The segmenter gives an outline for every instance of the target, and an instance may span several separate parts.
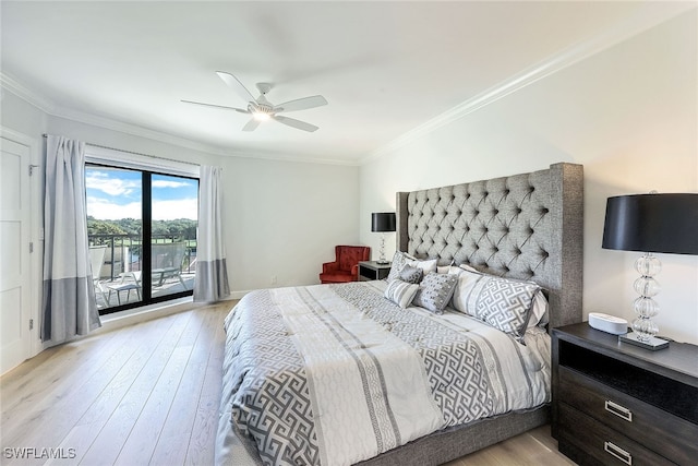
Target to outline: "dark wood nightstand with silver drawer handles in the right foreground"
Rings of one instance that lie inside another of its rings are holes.
[[[648,351],[587,322],[553,328],[552,433],[582,465],[695,465],[698,346]]]

